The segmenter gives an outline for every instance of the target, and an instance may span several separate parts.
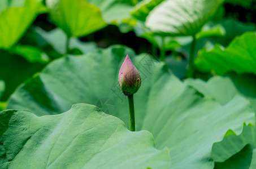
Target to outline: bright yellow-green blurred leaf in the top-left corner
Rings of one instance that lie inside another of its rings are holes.
[[[41,1],[1,1],[0,48],[11,48],[32,24],[38,14]],[[3,6],[2,6],[3,5]]]

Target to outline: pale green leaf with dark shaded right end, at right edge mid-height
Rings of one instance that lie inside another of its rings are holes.
[[[224,77],[216,75],[207,82],[201,79],[186,79],[185,82],[205,97],[214,98],[222,105],[227,104],[239,94],[248,99],[256,110],[256,76],[254,74],[229,73]]]

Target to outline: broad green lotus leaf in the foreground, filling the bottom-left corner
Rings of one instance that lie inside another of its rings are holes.
[[[168,149],[157,150],[148,131],[131,132],[94,105],[37,117],[0,113],[0,168],[168,168]]]

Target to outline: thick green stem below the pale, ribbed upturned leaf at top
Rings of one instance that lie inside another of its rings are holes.
[[[186,77],[188,78],[192,78],[194,77],[194,72],[195,72],[195,68],[194,68],[194,52],[196,52],[196,35],[193,35],[193,41],[190,44],[190,56],[189,56],[189,66],[188,66],[188,72],[186,72]]]

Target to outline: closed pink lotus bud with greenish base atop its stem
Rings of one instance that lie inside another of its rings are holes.
[[[127,55],[122,64],[119,75],[118,83],[124,95],[129,96],[135,94],[141,86],[141,76],[138,70],[132,64],[132,60]]]

